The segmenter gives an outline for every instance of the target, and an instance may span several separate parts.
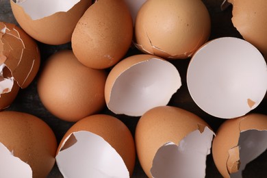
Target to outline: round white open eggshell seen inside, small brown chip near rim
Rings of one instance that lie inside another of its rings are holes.
[[[196,51],[188,66],[187,84],[192,99],[208,114],[244,116],[264,99],[266,62],[249,42],[218,38]]]

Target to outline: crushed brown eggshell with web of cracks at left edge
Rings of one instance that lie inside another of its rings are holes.
[[[31,84],[39,66],[36,42],[16,25],[0,22],[0,110],[14,101],[19,87]]]

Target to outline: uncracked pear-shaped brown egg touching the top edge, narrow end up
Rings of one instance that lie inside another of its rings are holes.
[[[109,68],[127,53],[133,23],[125,1],[99,0],[79,19],[72,36],[77,59],[90,68]]]

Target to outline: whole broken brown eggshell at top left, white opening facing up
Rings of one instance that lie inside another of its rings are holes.
[[[79,18],[90,7],[88,0],[10,0],[18,24],[32,38],[46,44],[64,44]]]

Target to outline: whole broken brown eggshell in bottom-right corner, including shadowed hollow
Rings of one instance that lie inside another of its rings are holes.
[[[267,149],[267,116],[247,114],[226,120],[212,143],[214,163],[223,177],[242,177],[246,164]]]

